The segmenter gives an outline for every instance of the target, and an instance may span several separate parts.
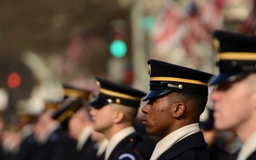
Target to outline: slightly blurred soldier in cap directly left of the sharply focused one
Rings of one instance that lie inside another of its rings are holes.
[[[144,92],[96,78],[100,93],[90,102],[93,128],[109,140],[105,160],[149,159],[151,150],[134,129],[141,98]]]

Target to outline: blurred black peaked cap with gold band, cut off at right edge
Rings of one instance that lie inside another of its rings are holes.
[[[256,72],[256,36],[215,30],[213,32],[213,49],[218,52],[216,65],[217,76],[209,85],[233,82]]]

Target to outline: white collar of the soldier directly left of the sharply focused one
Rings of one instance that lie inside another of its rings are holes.
[[[111,137],[110,142],[107,146],[106,153],[105,153],[105,160],[108,159],[114,147],[117,146],[117,144],[121,142],[122,139],[127,137],[129,134],[132,134],[133,132],[135,132],[134,127],[127,127],[117,132],[117,134],[114,134],[114,136]]]

